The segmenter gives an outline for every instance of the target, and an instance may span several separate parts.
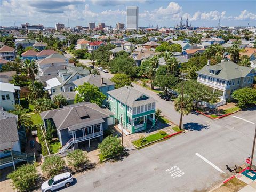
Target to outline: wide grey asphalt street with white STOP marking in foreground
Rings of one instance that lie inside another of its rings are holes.
[[[236,116],[256,122],[255,108]],[[187,133],[80,175],[61,191],[207,191],[230,177],[226,165],[245,163],[254,129],[232,116],[191,126]]]

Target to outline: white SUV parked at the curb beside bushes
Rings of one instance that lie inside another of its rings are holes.
[[[62,173],[44,182],[41,186],[41,191],[51,192],[61,187],[69,187],[72,182],[73,182],[73,176],[71,173],[69,172]]]

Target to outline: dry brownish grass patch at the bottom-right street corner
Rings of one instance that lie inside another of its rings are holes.
[[[246,183],[234,177],[224,185],[220,186],[218,189],[215,189],[213,192],[239,191],[245,186]]]

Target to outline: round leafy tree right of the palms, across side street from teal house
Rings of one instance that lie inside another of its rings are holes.
[[[169,91],[174,89],[177,85],[178,79],[174,75],[156,75],[156,85],[165,93],[169,94]]]

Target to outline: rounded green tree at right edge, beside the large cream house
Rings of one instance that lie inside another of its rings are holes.
[[[256,105],[256,89],[245,87],[232,93],[232,97],[237,101],[239,107]]]

